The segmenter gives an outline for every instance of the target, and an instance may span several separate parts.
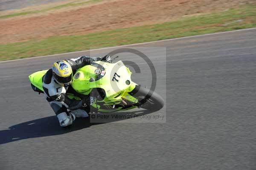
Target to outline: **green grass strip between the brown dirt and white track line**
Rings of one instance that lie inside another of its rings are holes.
[[[244,5],[213,14],[182,17],[162,24],[1,44],[0,61],[80,51],[92,46],[119,46],[252,27],[256,27],[256,5]]]

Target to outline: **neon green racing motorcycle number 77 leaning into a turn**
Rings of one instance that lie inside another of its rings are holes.
[[[44,93],[42,84],[47,71],[29,75],[32,89],[39,94]],[[89,98],[90,110],[86,107],[86,111],[91,113],[112,113],[134,108],[160,110],[164,106],[163,98],[131,81],[131,75],[132,72],[122,61],[95,61],[76,71],[66,94],[75,100]]]

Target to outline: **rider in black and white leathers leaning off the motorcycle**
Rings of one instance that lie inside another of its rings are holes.
[[[72,82],[73,73],[85,65],[90,65],[93,61],[110,61],[110,56],[106,55],[103,58],[81,56],[56,61],[44,75],[44,96],[57,115],[61,127],[71,125],[76,117],[88,117],[85,110],[79,109],[84,101],[72,100],[65,93]]]

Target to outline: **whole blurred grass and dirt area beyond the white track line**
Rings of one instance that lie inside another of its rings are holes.
[[[0,60],[256,26],[256,0],[1,0]]]

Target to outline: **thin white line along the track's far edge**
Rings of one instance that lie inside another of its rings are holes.
[[[218,34],[225,34],[225,33],[230,33],[230,32],[240,32],[240,31],[247,31],[247,30],[253,30],[253,29],[256,29],[256,28],[239,29],[239,30],[226,31],[226,32],[216,32],[216,33],[212,33],[212,34],[194,35],[194,36],[189,36],[189,37],[172,38],[172,39],[158,40],[158,41],[149,41],[149,42],[145,42],[145,43],[135,43],[135,44],[129,44],[129,45],[123,45],[123,46],[111,46],[111,47],[105,47],[105,48],[101,48],[101,49],[88,49],[88,50],[78,51],[78,52],[67,52],[67,53],[54,54],[54,55],[44,55],[44,56],[39,56],[39,57],[20,58],[20,59],[15,59],[15,60],[0,61],[0,63],[9,62],[9,61],[29,60],[29,59],[43,58],[43,57],[46,58],[46,57],[52,57],[52,56],[56,56],[56,55],[75,54],[75,53],[79,53],[79,52],[96,51],[96,50],[102,50],[102,49],[112,49],[112,48],[118,48],[118,47],[124,47],[124,46],[135,46],[135,45],[141,45],[141,44],[147,44],[147,43],[157,43],[157,42],[164,42],[164,41],[170,41],[170,40],[181,40],[181,39],[186,39],[186,38],[203,37],[203,36],[207,36],[207,35],[218,35]]]

